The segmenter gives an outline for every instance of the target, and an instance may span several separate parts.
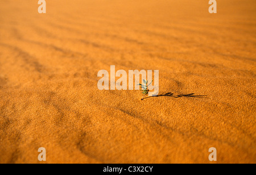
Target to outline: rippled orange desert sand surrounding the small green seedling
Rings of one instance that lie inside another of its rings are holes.
[[[0,2],[0,163],[256,163],[255,0],[46,2]],[[100,91],[110,65],[173,95]]]

